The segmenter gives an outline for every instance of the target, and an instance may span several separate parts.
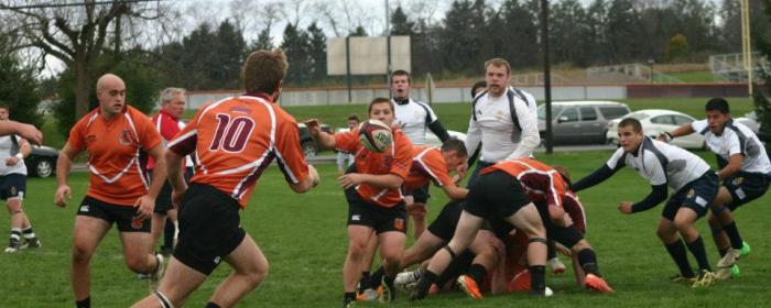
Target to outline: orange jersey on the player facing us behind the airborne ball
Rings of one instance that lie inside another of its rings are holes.
[[[391,147],[383,153],[371,152],[363,147],[359,141],[358,130],[335,134],[335,148],[356,155],[354,164],[356,164],[357,173],[371,175],[394,174],[406,179],[412,164],[412,143],[401,130],[394,129],[392,134]],[[356,191],[361,199],[387,208],[399,205],[404,197],[399,188],[386,189],[368,184],[356,186]]]

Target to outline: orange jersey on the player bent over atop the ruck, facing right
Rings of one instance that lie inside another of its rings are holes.
[[[546,164],[532,158],[517,158],[484,168],[479,174],[493,170],[502,170],[515,177],[533,202],[545,201],[551,206],[562,207],[567,185],[560,173]]]

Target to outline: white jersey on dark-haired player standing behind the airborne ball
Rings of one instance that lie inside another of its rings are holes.
[[[425,133],[428,124],[438,120],[434,110],[425,102],[409,99],[408,103],[399,105],[394,100],[395,122],[414,145],[425,144]]]

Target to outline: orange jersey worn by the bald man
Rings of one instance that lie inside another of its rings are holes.
[[[72,148],[88,151],[87,195],[119,206],[133,206],[148,194],[145,151],[160,143],[161,135],[150,118],[131,106],[109,120],[101,117],[99,108],[93,110],[75,123],[67,139]]]

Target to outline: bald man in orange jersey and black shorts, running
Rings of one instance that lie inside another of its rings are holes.
[[[112,224],[118,228],[126,265],[151,276],[151,288],[163,273],[163,256],[151,252],[150,218],[166,180],[161,135],[150,118],[126,103],[126,85],[107,74],[97,81],[99,107],[69,132],[56,164],[54,200],[65,207],[72,198],[67,176],[73,160],[87,151],[90,185],[79,205],[73,232],[70,282],[76,307],[90,307],[91,255]],[[152,180],[144,170],[155,160]]]

